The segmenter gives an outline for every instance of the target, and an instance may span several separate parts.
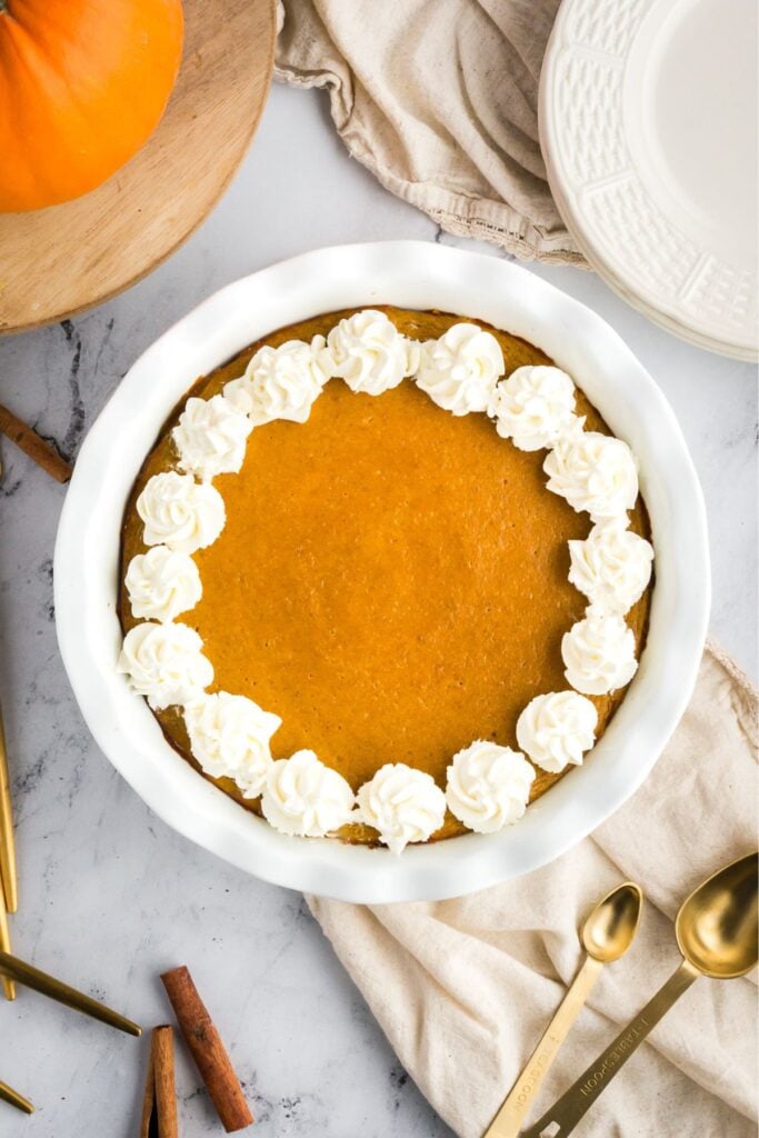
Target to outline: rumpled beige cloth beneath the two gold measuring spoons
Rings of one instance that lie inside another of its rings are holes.
[[[479,1138],[581,958],[585,914],[625,879],[646,905],[546,1080],[543,1113],[675,970],[673,918],[756,843],[757,693],[713,646],[652,774],[571,852],[452,901],[308,904],[402,1063],[461,1136]],[[571,775],[569,775],[571,777]],[[585,1138],[756,1135],[756,978],[700,979],[578,1128]]]

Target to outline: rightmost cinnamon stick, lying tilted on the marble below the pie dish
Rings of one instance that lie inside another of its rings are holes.
[[[192,976],[182,965],[160,979],[224,1129],[228,1133],[244,1130],[253,1123],[253,1114]]]

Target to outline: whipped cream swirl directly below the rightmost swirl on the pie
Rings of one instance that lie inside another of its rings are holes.
[[[605,695],[629,684],[637,671],[635,636],[614,612],[588,608],[561,640],[568,683],[585,695]]]

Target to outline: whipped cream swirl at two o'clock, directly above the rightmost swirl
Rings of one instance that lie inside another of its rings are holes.
[[[567,498],[593,521],[632,510],[637,497],[637,468],[627,443],[596,431],[576,430],[560,438],[543,469],[548,489]]]

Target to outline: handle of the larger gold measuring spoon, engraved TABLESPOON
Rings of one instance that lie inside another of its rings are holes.
[[[583,1072],[561,1098],[556,1099],[543,1118],[538,1119],[535,1125],[525,1132],[522,1138],[541,1138],[543,1131],[551,1123],[559,1124],[558,1130],[555,1125],[552,1129],[552,1138],[566,1138],[567,1135],[570,1135],[649,1032],[655,1028],[683,992],[687,991],[693,981],[699,979],[700,974],[686,960],[683,960],[679,968],[649,1000],[643,1011],[638,1012],[626,1028],[622,1028],[605,1052]]]

